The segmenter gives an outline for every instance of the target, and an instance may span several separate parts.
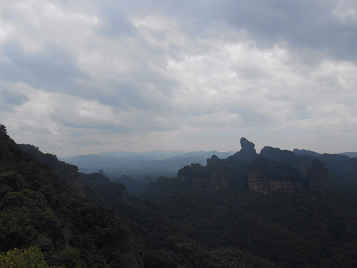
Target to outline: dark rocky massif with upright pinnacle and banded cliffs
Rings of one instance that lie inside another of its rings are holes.
[[[296,155],[290,150],[269,146],[258,155],[253,142],[242,137],[240,144],[242,149],[231,157],[219,159],[214,155],[207,159],[207,166],[185,166],[179,170],[178,177],[212,191],[241,186],[244,190],[271,194],[330,186],[325,164],[311,155]]]

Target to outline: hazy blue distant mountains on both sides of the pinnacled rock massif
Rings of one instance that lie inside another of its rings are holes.
[[[225,159],[235,153],[232,150],[229,152],[218,152],[215,150],[197,150],[192,152],[184,152],[183,150],[152,150],[144,153],[112,151],[98,155],[78,155],[62,160],[78,166],[80,172],[92,173],[102,170],[109,179],[124,183],[129,192],[133,193],[140,190],[144,182],[154,181],[159,176],[176,177],[178,170],[183,166],[191,164],[206,166],[207,159],[210,159],[213,155],[216,155],[220,159]],[[352,174],[354,173],[354,162],[352,161],[352,163],[348,159],[357,157],[357,153],[349,152],[329,155],[296,148],[291,153],[321,159],[329,166],[330,172],[332,172],[334,177],[340,177],[341,174],[349,174],[349,177],[354,177],[354,174]]]

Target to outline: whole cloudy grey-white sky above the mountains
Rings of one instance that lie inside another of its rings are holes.
[[[0,0],[0,124],[60,157],[357,151],[355,0]]]

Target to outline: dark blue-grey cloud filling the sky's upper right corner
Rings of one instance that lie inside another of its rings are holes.
[[[228,1],[220,19],[246,30],[259,45],[286,42],[295,49],[323,50],[341,60],[357,61],[357,23],[338,21],[339,1]],[[356,5],[354,5],[356,9]],[[315,56],[318,56],[315,55]]]

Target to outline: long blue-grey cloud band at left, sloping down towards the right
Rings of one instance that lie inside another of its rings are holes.
[[[0,62],[0,77],[8,82],[25,82],[34,88],[59,91],[84,99],[96,99],[115,109],[167,109],[174,82],[162,77],[150,67],[147,60],[139,62],[139,69],[123,74],[124,78],[93,79],[76,66],[76,56],[63,47],[47,44],[44,51],[27,53],[21,44],[11,42],[4,47],[4,55],[11,61]],[[146,57],[146,55],[143,55]],[[157,63],[160,64],[160,57]],[[81,85],[76,80],[85,80]],[[152,87],[150,91],[149,87]]]

